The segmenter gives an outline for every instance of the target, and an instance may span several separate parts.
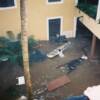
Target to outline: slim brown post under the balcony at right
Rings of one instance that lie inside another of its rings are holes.
[[[92,36],[91,52],[90,52],[90,60],[95,58],[96,40],[97,40],[96,36],[93,34],[93,36]]]

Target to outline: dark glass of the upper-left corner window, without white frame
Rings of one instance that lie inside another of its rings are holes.
[[[0,7],[13,7],[15,6],[14,0],[0,0]]]

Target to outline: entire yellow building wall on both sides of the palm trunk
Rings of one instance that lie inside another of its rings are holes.
[[[0,35],[11,30],[15,34],[21,31],[20,8],[0,11]],[[64,0],[62,4],[47,4],[47,0],[28,0],[28,32],[36,39],[47,40],[47,18],[63,17],[62,32],[69,32],[67,36],[73,37],[74,27],[74,0]]]

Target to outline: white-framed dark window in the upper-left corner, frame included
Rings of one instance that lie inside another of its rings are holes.
[[[0,9],[9,9],[16,7],[16,0],[0,0]]]

